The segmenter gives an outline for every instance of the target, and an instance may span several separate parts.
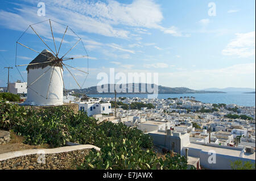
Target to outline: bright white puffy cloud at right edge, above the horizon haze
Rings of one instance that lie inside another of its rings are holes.
[[[255,31],[236,33],[236,38],[222,50],[226,56],[251,57],[255,56]]]

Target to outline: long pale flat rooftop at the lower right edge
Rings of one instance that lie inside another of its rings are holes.
[[[230,155],[233,157],[240,157],[240,150],[232,150],[232,149],[227,149],[227,148],[218,148],[218,147],[214,147],[214,146],[206,146],[206,145],[199,145],[199,144],[189,144],[188,146],[186,146],[188,148],[195,148],[195,149],[201,149],[202,151],[210,151],[210,150],[214,150],[216,151],[217,154],[223,154],[223,155]],[[245,157],[244,158],[248,158],[248,159],[254,159],[255,160],[255,152],[253,154],[251,153],[245,153]]]

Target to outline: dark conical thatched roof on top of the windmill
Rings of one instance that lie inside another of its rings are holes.
[[[46,56],[44,56],[43,54],[46,55]],[[38,54],[38,56],[30,62],[30,64],[53,61],[53,60],[55,60],[55,58],[56,57],[51,52],[49,52],[47,49],[44,49],[41,52],[41,54]],[[49,62],[49,63],[45,63],[45,64],[28,65],[27,66],[27,73],[29,72],[30,69],[40,69],[40,68],[44,69],[48,65],[52,66],[53,62]],[[55,64],[55,66],[60,66],[63,69],[61,64]]]

